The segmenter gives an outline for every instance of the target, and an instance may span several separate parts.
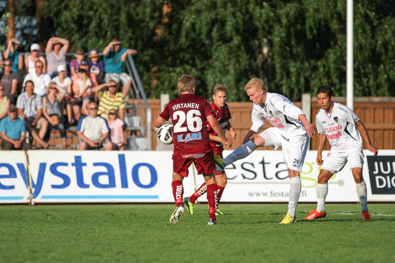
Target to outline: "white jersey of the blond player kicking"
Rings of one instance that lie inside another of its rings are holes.
[[[266,93],[265,104],[253,104],[252,126],[250,130],[259,132],[265,124],[265,119],[275,126],[287,138],[306,135],[305,127],[298,120],[304,114],[289,99],[276,93]]]

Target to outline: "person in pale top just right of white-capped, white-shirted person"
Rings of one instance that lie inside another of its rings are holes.
[[[87,105],[91,99],[90,95],[92,94],[92,81],[90,81],[88,75],[86,74],[86,70],[83,68],[79,68],[79,70],[77,71],[77,75],[78,79],[76,80],[76,85],[73,85],[73,94],[75,99],[80,99],[80,101],[82,102],[82,114],[87,115]],[[76,114],[75,111],[74,114]]]

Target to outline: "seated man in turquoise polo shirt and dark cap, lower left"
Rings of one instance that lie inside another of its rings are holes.
[[[12,104],[8,109],[8,116],[0,121],[1,149],[3,150],[29,150],[26,143],[25,122],[18,118],[17,108]]]

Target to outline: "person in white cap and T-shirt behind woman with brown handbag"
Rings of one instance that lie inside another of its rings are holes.
[[[62,102],[60,103],[60,112],[62,112],[65,109],[66,106],[66,112],[67,112],[67,119],[69,123],[73,123],[73,110],[71,108],[71,95],[73,94],[72,89],[71,89],[71,78],[66,77],[67,73],[67,68],[66,65],[59,65],[58,66],[58,75],[54,77],[51,81],[54,82],[58,87],[62,88],[65,91],[65,99],[62,99]]]

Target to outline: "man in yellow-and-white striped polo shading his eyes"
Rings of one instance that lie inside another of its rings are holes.
[[[107,87],[108,91],[101,91]],[[92,89],[99,99],[98,114],[105,119],[108,119],[110,110],[118,111],[118,116],[121,120],[124,118],[125,99],[120,92],[117,92],[117,83],[111,80],[109,83],[103,83]]]

